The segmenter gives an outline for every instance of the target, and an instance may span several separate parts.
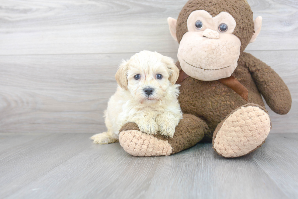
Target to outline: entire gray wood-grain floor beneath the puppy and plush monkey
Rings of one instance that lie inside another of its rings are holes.
[[[218,156],[211,144],[134,157],[119,143],[94,145],[89,136],[52,134],[9,148],[0,162],[0,197],[298,197],[298,134],[269,134],[257,151],[235,159]]]

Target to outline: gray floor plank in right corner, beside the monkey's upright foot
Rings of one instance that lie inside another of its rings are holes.
[[[289,198],[298,197],[298,136],[272,134],[264,150],[252,155],[255,162]]]

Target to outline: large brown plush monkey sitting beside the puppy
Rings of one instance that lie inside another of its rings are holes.
[[[271,129],[261,94],[278,114],[291,108],[286,84],[268,65],[243,52],[260,33],[246,0],[189,0],[178,19],[168,18],[178,41],[179,102],[183,119],[173,138],[140,132],[128,123],[121,146],[134,156],[177,153],[200,141],[212,141],[224,157],[251,153]]]

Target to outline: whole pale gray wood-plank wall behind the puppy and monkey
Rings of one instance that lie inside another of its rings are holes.
[[[293,98],[287,115],[269,110],[271,132],[297,132],[298,2],[247,1],[263,26],[246,51],[270,65]],[[2,1],[0,132],[105,130],[102,111],[121,59],[151,50],[177,60],[167,17],[177,18],[185,2]]]

